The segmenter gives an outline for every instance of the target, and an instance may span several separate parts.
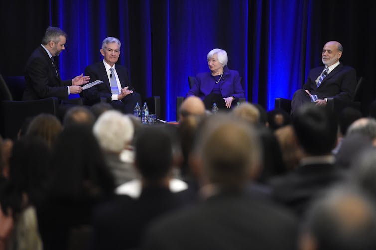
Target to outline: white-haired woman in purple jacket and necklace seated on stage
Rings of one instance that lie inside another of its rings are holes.
[[[231,108],[233,102],[245,97],[240,84],[239,72],[230,70],[227,65],[227,52],[223,49],[213,49],[207,54],[207,64],[210,72],[198,73],[197,81],[188,91],[187,96],[195,95],[205,103],[206,109],[211,109],[216,102],[218,108]]]

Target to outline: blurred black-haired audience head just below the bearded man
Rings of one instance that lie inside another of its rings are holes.
[[[306,155],[328,155],[336,145],[337,119],[325,107],[302,106],[294,115],[293,127]]]

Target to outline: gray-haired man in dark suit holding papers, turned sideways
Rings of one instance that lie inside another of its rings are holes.
[[[82,74],[72,80],[61,80],[54,62],[65,49],[67,34],[57,28],[48,27],[42,44],[31,54],[25,68],[25,90],[23,100],[37,100],[47,97],[68,99],[69,94],[81,93],[81,85],[88,83],[90,77]]]

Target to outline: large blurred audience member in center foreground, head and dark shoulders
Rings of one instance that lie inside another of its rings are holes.
[[[194,149],[205,200],[155,221],[143,249],[294,249],[295,219],[245,192],[259,166],[258,144],[248,124],[209,117]]]

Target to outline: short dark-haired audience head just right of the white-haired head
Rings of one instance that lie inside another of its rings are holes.
[[[169,177],[173,161],[172,138],[162,127],[144,127],[136,139],[135,166],[144,181]]]

